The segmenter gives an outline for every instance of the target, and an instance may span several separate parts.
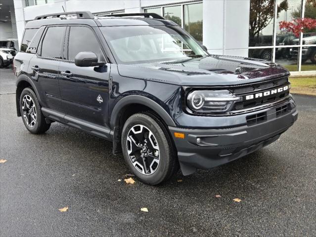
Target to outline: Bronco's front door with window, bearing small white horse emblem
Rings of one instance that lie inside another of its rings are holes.
[[[105,57],[94,30],[88,26],[69,26],[64,60],[60,63],[60,93],[66,115],[107,127],[110,64],[77,67],[79,52],[94,52],[99,62]],[[65,76],[66,74],[66,76]]]

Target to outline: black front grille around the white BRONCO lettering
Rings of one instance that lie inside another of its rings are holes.
[[[288,77],[232,88],[231,92],[236,96],[240,96],[242,99],[240,101],[237,101],[233,105],[231,111],[238,112],[241,110],[251,109],[252,107],[257,107],[279,101],[289,94],[289,89],[281,92],[277,91],[277,93],[274,92],[278,88],[282,88],[284,86],[288,86],[288,88],[290,87]],[[272,90],[273,93],[271,92]],[[258,93],[262,93],[262,96],[256,98],[255,95]],[[264,95],[265,93],[271,94]],[[246,99],[247,96],[252,95],[254,96],[254,98]]]

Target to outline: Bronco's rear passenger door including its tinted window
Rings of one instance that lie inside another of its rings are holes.
[[[30,62],[42,106],[56,111],[62,110],[58,67],[62,60],[65,32],[66,26],[47,27],[37,54]]]

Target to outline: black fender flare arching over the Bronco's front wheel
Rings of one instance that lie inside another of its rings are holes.
[[[118,125],[121,109],[129,104],[141,104],[147,106],[155,111],[168,126],[176,126],[176,123],[171,116],[157,102],[141,95],[128,95],[120,99],[113,108],[110,118],[110,127],[112,129]]]

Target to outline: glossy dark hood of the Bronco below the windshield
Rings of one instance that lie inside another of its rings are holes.
[[[288,76],[269,61],[211,55],[185,62],[118,65],[121,76],[183,86],[237,85]]]

